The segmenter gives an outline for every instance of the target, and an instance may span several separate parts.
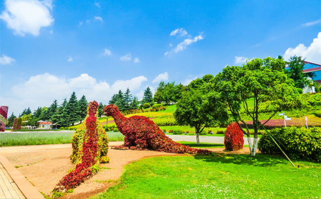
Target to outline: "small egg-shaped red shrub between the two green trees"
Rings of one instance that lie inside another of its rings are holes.
[[[238,124],[236,122],[229,124],[224,136],[225,148],[229,151],[237,151],[243,148],[243,144],[243,132]]]

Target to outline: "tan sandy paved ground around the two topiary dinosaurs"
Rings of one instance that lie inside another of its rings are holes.
[[[110,146],[117,146],[122,142],[110,143]],[[32,147],[32,146],[30,146]],[[248,148],[237,152],[225,152],[222,148],[209,149],[216,153],[249,154]],[[74,165],[70,162],[72,148],[45,149],[26,152],[3,154],[13,165],[20,166],[17,169],[40,191],[50,196],[50,192],[56,184],[72,169]],[[86,180],[74,189],[74,192],[62,198],[83,199],[89,198],[108,187],[115,185],[123,172],[124,165],[143,158],[155,156],[176,156],[175,154],[155,151],[132,151],[109,149],[110,162],[101,164],[103,169],[92,178]]]

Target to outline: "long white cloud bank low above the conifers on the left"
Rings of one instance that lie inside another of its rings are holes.
[[[76,92],[78,99],[85,95],[88,101],[96,100],[108,104],[112,95],[119,90],[125,91],[128,87],[133,95],[140,92],[145,81],[146,77],[139,76],[130,80],[117,80],[110,85],[106,81],[97,81],[88,74],[65,79],[45,73],[13,86],[12,96],[2,97],[0,100],[1,104],[9,106],[10,112],[14,112],[15,115],[27,107],[31,110],[37,109],[38,106],[48,107],[54,99],[61,104],[64,98],[67,100],[70,98],[73,91]]]

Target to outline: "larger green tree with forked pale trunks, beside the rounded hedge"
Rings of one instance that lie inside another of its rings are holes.
[[[302,104],[293,80],[289,79],[284,73],[284,67],[283,59],[256,58],[242,67],[225,67],[210,83],[206,84],[207,90],[211,90],[213,95],[218,95],[218,99],[228,107],[231,116],[247,136],[251,156],[255,156],[256,153],[257,134],[260,127],[278,112],[300,107]],[[248,106],[250,98],[254,100],[253,108]],[[265,109],[271,115],[269,119],[261,123],[259,117],[263,103]],[[252,119],[254,127],[253,144],[251,143],[248,125],[241,118],[241,106]],[[245,126],[245,129],[242,128],[241,123]]]

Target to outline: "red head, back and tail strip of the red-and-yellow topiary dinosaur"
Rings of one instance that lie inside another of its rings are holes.
[[[98,103],[96,101],[90,102],[87,110],[89,117],[86,119],[86,132],[82,144],[83,156],[81,157],[81,163],[77,164],[73,171],[63,177],[53,191],[66,192],[78,186],[95,173],[93,166],[95,166],[97,161],[99,163],[99,157],[97,158],[97,118],[95,117],[97,110]]]

